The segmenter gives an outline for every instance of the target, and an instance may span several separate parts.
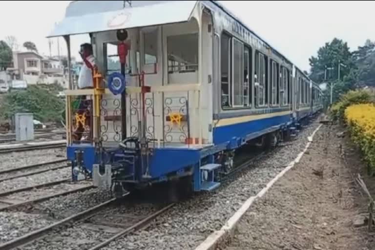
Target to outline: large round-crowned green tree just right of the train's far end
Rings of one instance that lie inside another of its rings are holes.
[[[325,72],[328,79],[338,79],[339,62],[346,67],[340,67],[340,79],[350,73],[350,69],[354,67],[352,53],[349,51],[348,43],[334,38],[332,42],[326,42],[323,47],[318,50],[317,57],[309,59],[311,66],[311,79],[314,82],[322,83],[325,79]],[[327,70],[327,68],[332,68]]]

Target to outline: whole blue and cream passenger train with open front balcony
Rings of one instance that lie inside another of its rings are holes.
[[[72,176],[118,194],[176,179],[212,190],[238,147],[322,107],[319,87],[216,1],[72,1],[49,35],[69,65],[76,35],[97,67],[90,89],[69,72]]]

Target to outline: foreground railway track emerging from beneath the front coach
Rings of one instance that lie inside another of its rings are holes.
[[[131,208],[126,212],[121,211],[121,209],[116,211],[118,207],[113,208],[111,205],[116,204],[117,200],[112,198],[42,229],[31,231],[5,242],[0,245],[0,250],[10,250],[21,246],[25,250],[41,250],[44,249],[45,242],[52,249],[65,249],[66,247],[78,249],[67,246],[61,235],[66,237],[67,242],[70,241],[73,245],[80,245],[79,249],[99,250],[119,237],[146,228],[157,216],[174,206],[174,204],[169,204],[162,206],[162,208],[152,209],[151,212],[147,210],[145,213],[137,214]],[[62,233],[62,231],[65,232]],[[80,234],[83,231],[86,235],[91,233],[97,236],[91,239],[83,239]],[[77,236],[80,237],[75,239]]]

